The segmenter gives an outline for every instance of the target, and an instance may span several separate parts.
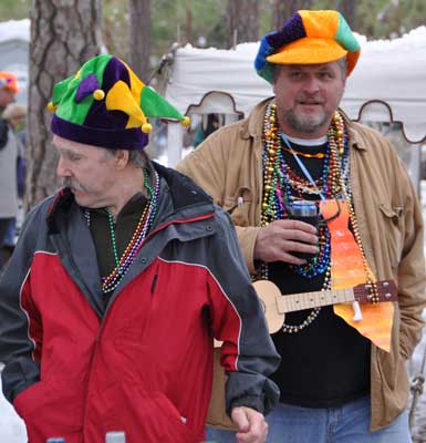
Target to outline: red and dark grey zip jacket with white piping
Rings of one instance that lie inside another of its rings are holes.
[[[0,282],[3,392],[30,443],[204,440],[212,338],[227,408],[268,412],[277,354],[229,217],[181,174],[160,174],[158,212],[110,300],[81,207],[60,192],[28,216]]]

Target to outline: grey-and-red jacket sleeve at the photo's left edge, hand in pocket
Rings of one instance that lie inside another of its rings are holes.
[[[38,233],[34,214],[22,229],[15,250],[0,280],[0,361],[4,396],[12,403],[40,380],[42,328],[31,301],[31,261]]]

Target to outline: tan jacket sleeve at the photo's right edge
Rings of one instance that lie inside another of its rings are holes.
[[[405,168],[401,165],[398,186],[405,190],[403,254],[398,266],[398,305],[401,310],[401,353],[408,359],[422,338],[426,307],[426,266],[424,227],[417,195]],[[405,182],[405,183],[404,183]]]

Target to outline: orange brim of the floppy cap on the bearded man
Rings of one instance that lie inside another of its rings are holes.
[[[273,64],[320,64],[330,63],[346,56],[347,75],[355,68],[360,51],[349,52],[333,39],[304,37],[285,44],[274,54],[267,56]]]

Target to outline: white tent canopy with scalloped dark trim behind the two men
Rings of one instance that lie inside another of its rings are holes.
[[[395,40],[366,41],[349,78],[342,109],[354,120],[401,122],[409,143],[426,140],[426,27]],[[247,114],[271,86],[254,72],[258,43],[235,50],[178,48],[169,58],[165,96],[185,113]],[[231,117],[229,120],[232,120]],[[169,164],[180,157],[179,128],[173,138]],[[176,147],[177,146],[177,147]]]

